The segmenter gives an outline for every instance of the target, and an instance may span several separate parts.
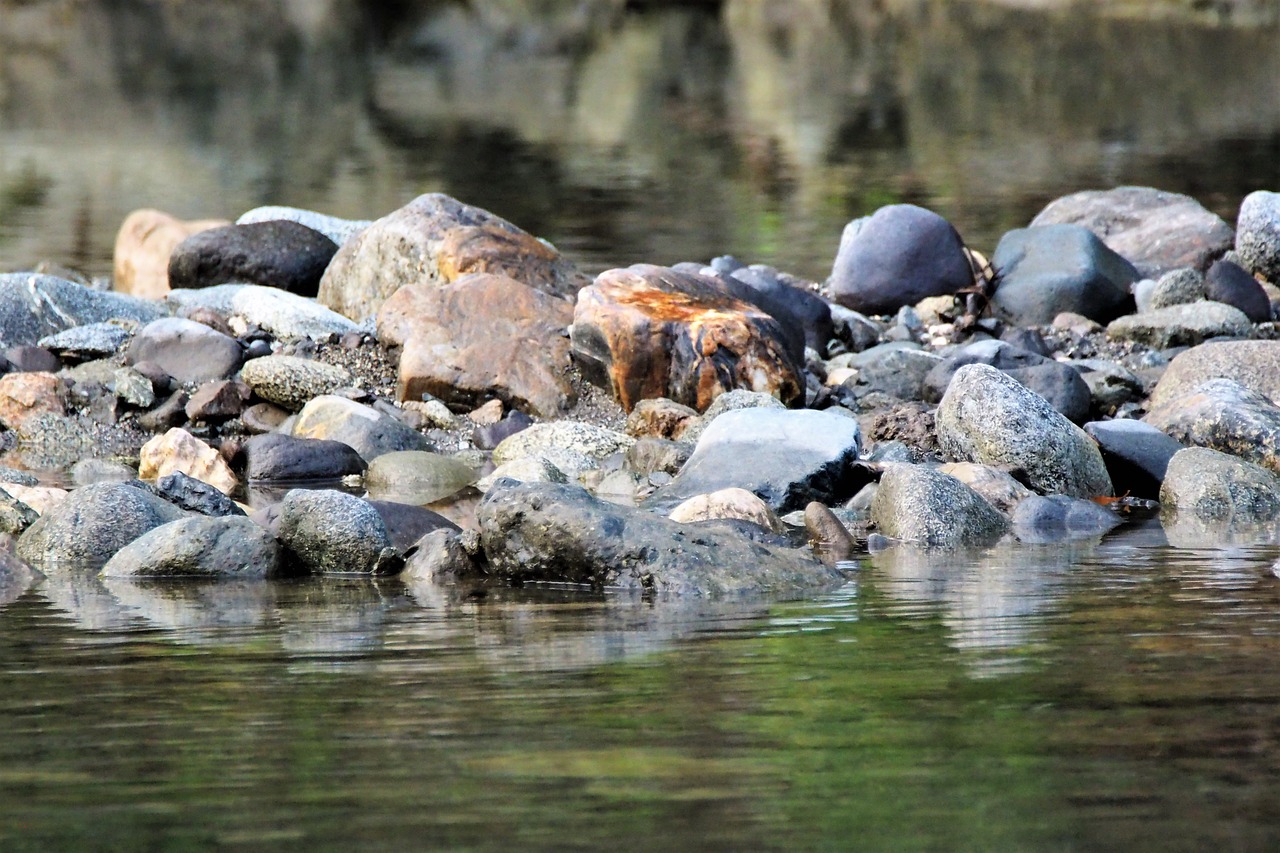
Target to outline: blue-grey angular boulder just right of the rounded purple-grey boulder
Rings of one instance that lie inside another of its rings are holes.
[[[992,264],[996,315],[1018,325],[1047,325],[1062,311],[1108,323],[1133,310],[1138,270],[1079,225],[1020,228],[1000,238]]]

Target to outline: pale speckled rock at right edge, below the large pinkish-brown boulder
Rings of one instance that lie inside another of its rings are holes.
[[[1183,444],[1231,453],[1280,471],[1280,407],[1230,379],[1165,400],[1143,421]]]

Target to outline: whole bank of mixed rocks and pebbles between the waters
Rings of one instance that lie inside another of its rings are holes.
[[[796,596],[868,548],[1270,523],[1272,282],[1271,192],[1234,227],[1075,193],[989,261],[891,205],[820,284],[727,256],[593,279],[439,193],[140,210],[111,291],[0,275],[5,571]]]

